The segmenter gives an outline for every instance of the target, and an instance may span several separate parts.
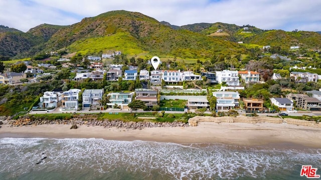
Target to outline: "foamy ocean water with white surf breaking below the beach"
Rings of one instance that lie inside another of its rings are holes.
[[[0,179],[307,179],[321,148],[0,138]]]

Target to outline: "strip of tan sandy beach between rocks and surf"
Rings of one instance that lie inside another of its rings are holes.
[[[102,126],[32,125],[10,127],[3,124],[3,137],[103,138],[107,140],[144,140],[173,143],[223,143],[231,145],[291,144],[296,147],[321,148],[321,128],[284,123],[199,122],[190,127],[152,127],[141,130],[104,128]]]

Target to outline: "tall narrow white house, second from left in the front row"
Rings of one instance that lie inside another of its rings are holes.
[[[77,110],[80,89],[70,89],[63,92],[61,98],[62,106],[60,110]]]

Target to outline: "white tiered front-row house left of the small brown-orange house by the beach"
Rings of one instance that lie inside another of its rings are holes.
[[[240,94],[233,91],[213,92],[216,97],[216,109],[227,110],[239,106]]]

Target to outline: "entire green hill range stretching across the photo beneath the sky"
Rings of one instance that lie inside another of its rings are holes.
[[[290,46],[320,48],[315,32],[260,30],[254,26],[198,23],[175,26],[137,12],[111,11],[84,18],[70,26],[39,25],[27,33],[2,26],[0,56],[27,57],[66,50],[82,55],[100,55],[119,50],[131,56],[210,59],[217,54],[247,54],[252,47]],[[240,45],[237,42],[243,42]]]

